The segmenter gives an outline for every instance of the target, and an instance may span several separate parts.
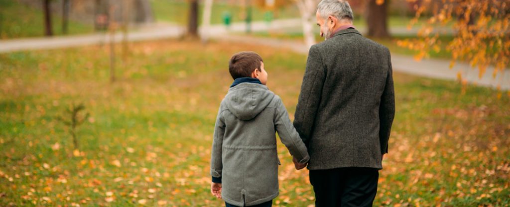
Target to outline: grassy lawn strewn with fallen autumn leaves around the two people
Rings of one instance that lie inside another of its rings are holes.
[[[120,46],[117,54],[121,54]],[[104,46],[0,54],[0,206],[221,206],[209,192],[227,60],[259,52],[293,118],[306,57],[255,45],[135,43],[109,81]],[[395,73],[397,113],[375,206],[510,205],[510,100]],[[74,150],[66,111],[83,104]],[[59,120],[61,117],[62,120]],[[313,206],[279,143],[274,206]]]

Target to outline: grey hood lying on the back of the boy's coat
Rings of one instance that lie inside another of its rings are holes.
[[[266,108],[274,97],[267,86],[259,83],[240,83],[228,90],[225,105],[238,119],[253,119]]]

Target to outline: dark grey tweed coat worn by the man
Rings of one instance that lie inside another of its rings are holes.
[[[294,119],[310,170],[381,169],[394,115],[388,48],[353,28],[310,48]]]

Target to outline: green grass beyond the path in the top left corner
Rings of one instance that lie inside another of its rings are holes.
[[[41,3],[42,4],[42,3]],[[54,3],[55,4],[55,3]],[[44,36],[44,15],[35,9],[15,0],[0,0],[0,39]],[[62,34],[62,18],[52,15],[54,35]],[[68,34],[93,32],[93,26],[69,20]]]

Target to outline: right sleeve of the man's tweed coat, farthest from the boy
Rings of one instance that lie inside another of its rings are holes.
[[[393,86],[393,69],[391,66],[391,54],[388,52],[388,74],[386,84],[381,95],[379,105],[379,141],[381,154],[388,153],[388,140],[390,138],[391,125],[395,117],[395,89]]]

